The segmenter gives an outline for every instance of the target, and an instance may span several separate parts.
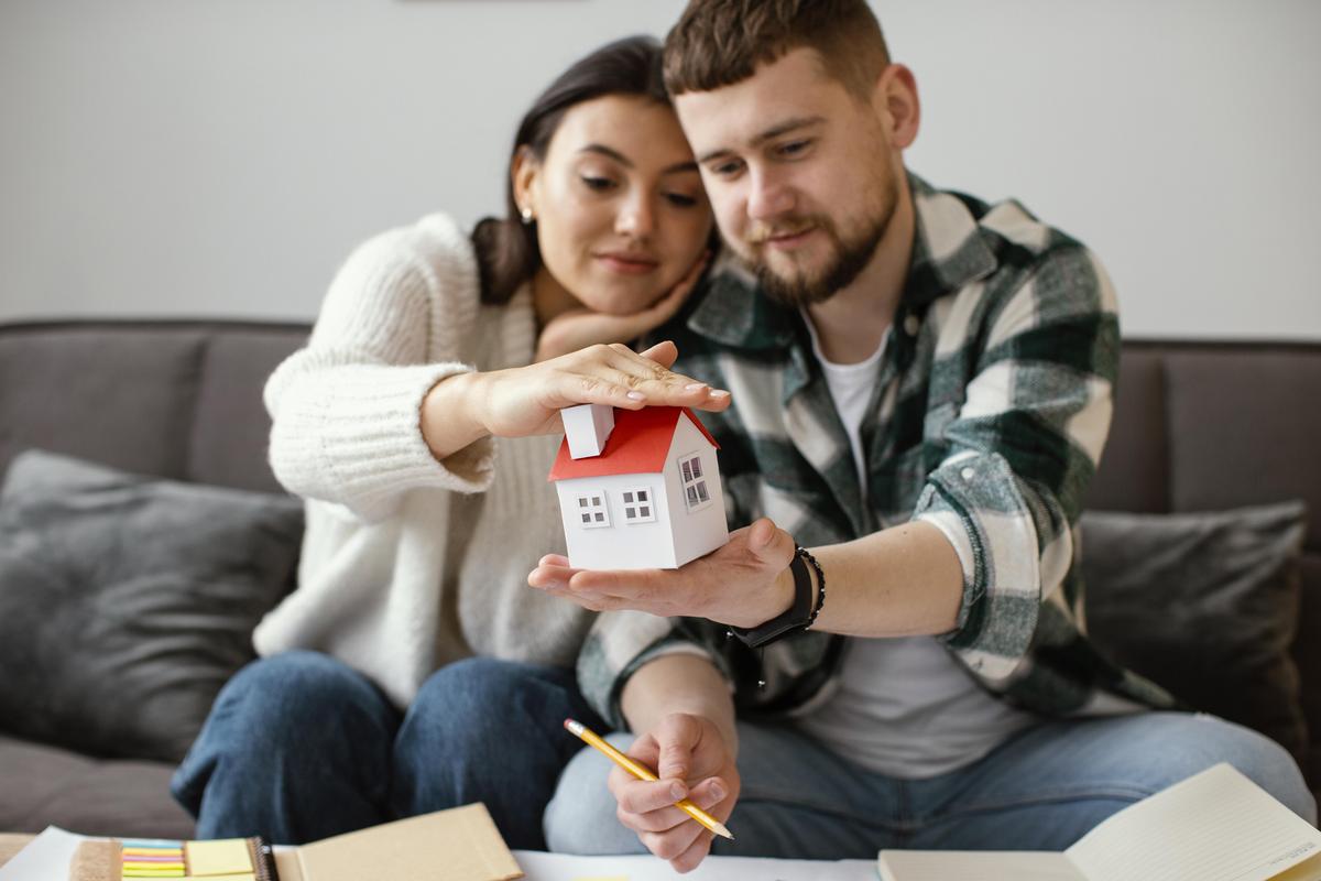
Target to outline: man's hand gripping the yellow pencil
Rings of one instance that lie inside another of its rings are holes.
[[[719,728],[703,716],[671,713],[627,752],[658,781],[639,781],[622,767],[610,770],[609,789],[618,802],[620,823],[675,872],[691,872],[711,852],[713,835],[674,806],[691,799],[724,823],[738,800],[741,781]]]

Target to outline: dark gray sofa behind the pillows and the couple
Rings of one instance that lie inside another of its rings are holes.
[[[25,448],[127,472],[279,493],[266,376],[305,325],[67,321],[0,325],[0,476]],[[1165,514],[1304,499],[1321,512],[1321,343],[1129,342],[1090,507]],[[1321,790],[1321,514],[1308,526],[1293,658]],[[0,582],[0,592],[5,585]],[[42,676],[5,670],[4,676]],[[165,762],[104,759],[7,734],[0,831],[188,836]]]

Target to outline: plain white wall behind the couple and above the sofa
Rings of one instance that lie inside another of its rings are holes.
[[[682,0],[0,0],[0,320],[310,318],[355,242],[497,209],[565,63]],[[1321,339],[1321,4],[877,0],[909,164],[1090,243],[1129,335]]]

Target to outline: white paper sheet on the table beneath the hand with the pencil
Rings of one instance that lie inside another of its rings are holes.
[[[696,869],[675,874],[654,856],[572,856],[514,851],[527,881],[876,881],[871,860],[758,860],[708,856]]]

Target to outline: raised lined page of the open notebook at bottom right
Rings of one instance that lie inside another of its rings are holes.
[[[1065,853],[1090,881],[1266,881],[1321,832],[1226,763],[1124,808]]]

